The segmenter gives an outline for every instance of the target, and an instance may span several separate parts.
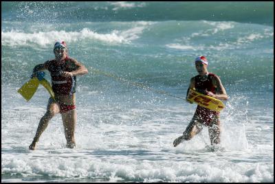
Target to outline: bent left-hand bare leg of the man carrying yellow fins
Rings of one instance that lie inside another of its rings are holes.
[[[30,150],[35,149],[36,143],[39,141],[39,138],[41,137],[42,133],[47,128],[47,125],[49,124],[50,119],[52,119],[52,117],[54,117],[54,115],[56,115],[57,113],[59,113],[59,106],[57,104],[55,104],[54,101],[49,100],[49,103],[47,105],[47,112],[41,118],[41,120],[39,122],[39,127],[36,130],[34,140],[32,141],[32,143],[29,146]]]

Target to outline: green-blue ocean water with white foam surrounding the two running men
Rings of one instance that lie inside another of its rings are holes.
[[[273,2],[1,5],[2,182],[274,182]],[[17,90],[58,40],[89,70],[77,77],[77,146],[65,148],[56,115],[30,151],[50,95]],[[230,96],[215,152],[207,127],[173,147],[195,113],[176,97],[200,55]]]

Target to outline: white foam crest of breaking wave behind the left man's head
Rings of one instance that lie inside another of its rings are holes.
[[[129,30],[113,30],[109,34],[99,34],[88,28],[83,28],[80,32],[66,32],[61,31],[50,31],[50,32],[1,32],[1,44],[14,46],[24,45],[39,45],[45,47],[46,45],[52,45],[52,41],[65,40],[67,42],[77,42],[80,40],[98,40],[104,43],[131,43],[131,41],[139,38],[138,34],[141,34],[145,29],[144,23],[141,22],[142,26],[133,27]]]

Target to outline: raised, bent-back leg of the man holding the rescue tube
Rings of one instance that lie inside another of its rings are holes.
[[[199,122],[197,121],[197,119],[193,118],[190,124],[188,124],[186,130],[184,131],[184,135],[177,137],[177,139],[175,139],[175,141],[173,142],[174,147],[179,145],[179,143],[181,143],[181,141],[183,140],[188,141],[192,139],[192,137],[200,133],[201,130],[202,126],[199,126]]]

